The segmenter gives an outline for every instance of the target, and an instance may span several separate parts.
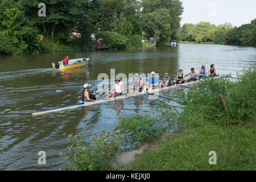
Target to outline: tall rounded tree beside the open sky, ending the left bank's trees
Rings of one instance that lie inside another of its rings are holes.
[[[156,41],[167,41],[180,28],[182,3],[179,0],[142,0],[143,30],[154,36]]]

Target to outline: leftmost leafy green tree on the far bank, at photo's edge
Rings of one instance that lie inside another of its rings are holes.
[[[26,19],[20,3],[4,0],[0,3],[0,10],[0,34],[11,41],[9,47],[14,46],[12,51],[6,51],[6,53],[38,53],[40,44],[36,38],[38,28],[32,26],[32,23]]]

